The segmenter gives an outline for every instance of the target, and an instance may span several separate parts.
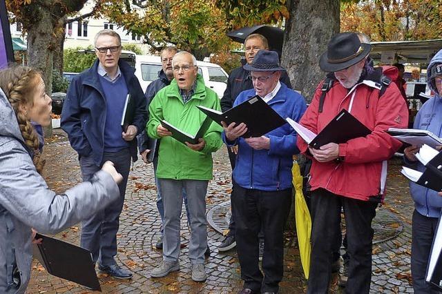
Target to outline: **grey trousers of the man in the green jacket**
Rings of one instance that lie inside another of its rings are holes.
[[[164,204],[163,259],[175,262],[180,256],[180,215],[183,188],[191,219],[189,259],[191,264],[203,264],[207,248],[206,192],[209,181],[196,179],[158,179]]]

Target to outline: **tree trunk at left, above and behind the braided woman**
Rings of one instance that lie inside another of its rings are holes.
[[[39,21],[28,30],[29,66],[41,72],[46,93],[52,94],[52,55],[54,50],[52,15],[46,9],[39,10]],[[52,126],[44,128],[44,137],[52,137]]]

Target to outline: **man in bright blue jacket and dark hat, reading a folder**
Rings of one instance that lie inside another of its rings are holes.
[[[284,68],[278,53],[260,50],[251,64],[253,89],[241,92],[236,106],[258,95],[283,117],[299,121],[307,108],[305,99],[280,82]],[[259,119],[259,118],[257,118]],[[238,146],[233,169],[233,216],[236,221],[236,247],[244,286],[240,293],[277,293],[284,273],[284,225],[291,198],[292,156],[299,153],[296,133],[289,124],[261,137],[243,138],[247,126],[224,124],[223,140]],[[262,270],[258,266],[258,233],[264,232],[265,247]]]

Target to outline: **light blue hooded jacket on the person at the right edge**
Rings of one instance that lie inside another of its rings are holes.
[[[430,72],[435,63],[442,63],[442,50],[434,55],[427,68],[427,84],[436,94],[433,99],[429,99],[423,104],[414,119],[413,128],[429,130],[434,135],[442,137],[442,97],[441,93],[438,93],[437,89],[430,83]],[[409,161],[407,163],[410,164]],[[415,163],[414,168],[421,172],[425,170],[425,166],[419,161]],[[414,206],[421,215],[426,217],[439,217],[441,215],[442,197],[435,190],[410,182],[410,193],[414,200]]]

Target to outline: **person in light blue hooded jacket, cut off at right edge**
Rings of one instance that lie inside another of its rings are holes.
[[[427,84],[434,92],[434,98],[423,104],[414,119],[413,128],[430,130],[437,137],[442,137],[442,50],[434,55],[427,68]],[[419,146],[410,146],[404,150],[404,160],[408,166],[423,173],[425,166],[416,159]],[[442,146],[437,149],[441,150]],[[412,279],[414,293],[439,293],[425,282],[428,258],[434,233],[442,212],[442,195],[410,182],[410,193],[414,200],[412,218]]]

